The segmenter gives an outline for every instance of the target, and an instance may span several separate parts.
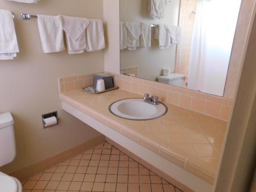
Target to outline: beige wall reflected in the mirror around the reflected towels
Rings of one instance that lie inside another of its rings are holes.
[[[180,0],[173,0],[167,4],[164,18],[161,20],[151,18],[148,15],[147,5],[147,0],[121,0],[120,21],[178,26]],[[152,28],[151,48],[138,48],[136,51],[124,49],[120,51],[121,69],[138,66],[138,77],[153,81],[157,81],[157,77],[162,75],[163,68],[169,68],[171,73],[174,73],[176,45],[160,50],[154,33],[155,29]]]

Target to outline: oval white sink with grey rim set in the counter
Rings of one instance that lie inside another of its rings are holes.
[[[113,102],[109,111],[118,117],[131,120],[150,120],[165,115],[167,107],[159,102],[158,105],[145,102],[143,98],[122,99]]]

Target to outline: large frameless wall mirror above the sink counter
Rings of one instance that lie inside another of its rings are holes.
[[[241,0],[120,0],[120,73],[223,96]]]

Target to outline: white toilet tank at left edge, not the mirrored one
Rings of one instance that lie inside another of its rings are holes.
[[[16,156],[13,123],[10,113],[0,114],[0,167],[12,162]]]

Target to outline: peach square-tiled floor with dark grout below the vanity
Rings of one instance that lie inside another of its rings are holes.
[[[44,170],[23,192],[182,192],[109,143]]]

